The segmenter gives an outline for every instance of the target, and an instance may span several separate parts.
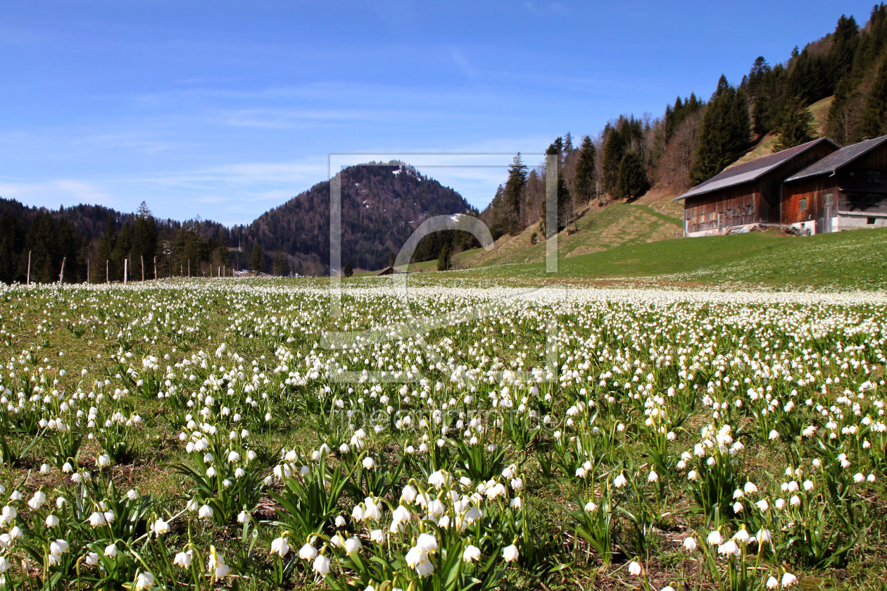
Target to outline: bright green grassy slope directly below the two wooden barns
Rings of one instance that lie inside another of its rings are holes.
[[[447,273],[471,277],[552,277],[545,264],[496,264]],[[887,230],[809,238],[750,232],[710,238],[632,242],[561,257],[559,279],[651,278],[693,284],[747,283],[770,287],[887,288]]]

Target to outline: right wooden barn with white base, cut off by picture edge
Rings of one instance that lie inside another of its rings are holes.
[[[809,233],[887,227],[887,136],[841,148],[786,178],[783,225]]]

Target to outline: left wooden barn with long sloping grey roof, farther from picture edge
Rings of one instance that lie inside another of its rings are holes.
[[[814,139],[736,164],[675,198],[684,201],[684,235],[712,236],[753,224],[781,224],[782,181],[840,149]]]

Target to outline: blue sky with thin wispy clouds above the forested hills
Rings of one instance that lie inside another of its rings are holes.
[[[871,4],[4,1],[0,196],[248,223],[329,154],[538,154]],[[505,169],[427,173],[483,208]]]

